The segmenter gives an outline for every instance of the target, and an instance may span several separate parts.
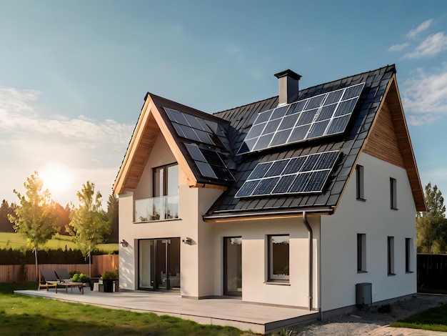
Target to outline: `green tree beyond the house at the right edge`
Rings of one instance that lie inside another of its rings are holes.
[[[438,187],[426,185],[426,212],[416,217],[416,241],[420,253],[444,253],[447,246],[447,220],[444,198]]]

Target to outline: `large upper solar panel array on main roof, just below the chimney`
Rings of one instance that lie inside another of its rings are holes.
[[[345,132],[365,83],[261,112],[237,154]]]

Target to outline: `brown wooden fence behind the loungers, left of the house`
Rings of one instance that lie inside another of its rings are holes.
[[[118,255],[93,255],[91,258],[91,276],[97,277],[105,271],[116,270],[119,265]],[[89,274],[89,264],[41,264],[39,268],[65,268],[68,272],[78,271]],[[0,265],[0,282],[36,281],[36,265]]]

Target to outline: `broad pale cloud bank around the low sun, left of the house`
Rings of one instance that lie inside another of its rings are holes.
[[[65,194],[53,194],[56,202],[77,204],[76,192],[89,180],[106,206],[134,125],[84,116],[42,117],[34,105],[38,97],[33,90],[0,88],[0,199],[17,202],[13,189],[24,192],[23,183],[34,170],[60,162],[73,183]]]

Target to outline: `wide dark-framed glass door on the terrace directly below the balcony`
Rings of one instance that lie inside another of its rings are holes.
[[[180,289],[180,238],[139,241],[139,288]]]

